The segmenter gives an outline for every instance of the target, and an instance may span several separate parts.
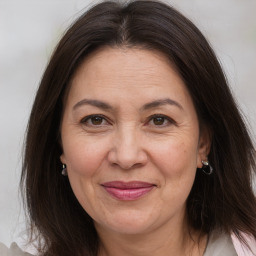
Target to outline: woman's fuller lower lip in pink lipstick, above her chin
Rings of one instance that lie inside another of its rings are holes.
[[[132,201],[143,197],[148,194],[154,186],[145,187],[145,188],[127,188],[120,189],[114,187],[104,187],[105,190],[114,198],[123,201]]]

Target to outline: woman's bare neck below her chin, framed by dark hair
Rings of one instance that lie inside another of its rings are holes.
[[[180,225],[181,224],[181,225]],[[179,227],[179,228],[178,228]],[[202,256],[207,236],[189,231],[186,222],[175,223],[141,234],[120,234],[96,225],[101,245],[99,256]]]

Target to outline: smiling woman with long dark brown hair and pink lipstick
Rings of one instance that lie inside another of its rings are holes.
[[[255,169],[199,30],[160,2],[104,2],[66,32],[37,92],[22,172],[31,241],[58,256],[228,256],[237,242],[253,255]]]

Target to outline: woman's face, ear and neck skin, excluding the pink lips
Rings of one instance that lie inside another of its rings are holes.
[[[156,100],[164,103],[147,105]],[[186,199],[210,139],[199,131],[191,96],[165,56],[110,47],[91,54],[71,82],[61,138],[60,158],[94,220],[99,255],[203,254],[206,237],[198,245],[191,239],[198,233],[188,234]],[[154,188],[136,200],[118,200],[102,187],[116,180]]]

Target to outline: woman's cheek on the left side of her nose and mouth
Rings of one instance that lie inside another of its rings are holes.
[[[68,138],[63,140],[70,185],[84,210],[90,216],[95,216],[97,214],[94,208],[98,201],[95,184],[97,185],[98,173],[109,143],[104,139],[97,140],[86,136],[70,138],[70,140]]]

